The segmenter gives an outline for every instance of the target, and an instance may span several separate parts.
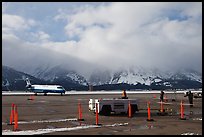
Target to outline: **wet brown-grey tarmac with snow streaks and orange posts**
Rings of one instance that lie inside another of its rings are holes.
[[[122,91],[121,91],[122,93]],[[184,94],[165,94],[166,115],[159,115],[159,94],[127,94],[129,99],[138,99],[139,112],[131,118],[128,114],[96,116],[88,109],[90,98],[119,98],[121,94],[88,95],[38,95],[29,100],[29,95],[2,96],[2,134],[43,135],[202,135],[202,98],[188,105]],[[175,99],[175,101],[172,101]],[[180,119],[180,102],[184,103],[184,117]],[[147,121],[147,102],[150,101],[151,119]],[[81,103],[82,118],[78,121],[78,103]],[[18,128],[8,125],[11,104],[18,110]]]

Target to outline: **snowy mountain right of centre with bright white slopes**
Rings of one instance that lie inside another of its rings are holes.
[[[202,83],[202,74],[194,70],[183,69],[180,71],[162,71],[159,69],[145,69],[134,67],[116,72],[104,71],[93,73],[89,79],[92,85],[102,84],[145,84],[151,85],[163,81],[164,85],[169,85],[169,80],[192,80]]]

